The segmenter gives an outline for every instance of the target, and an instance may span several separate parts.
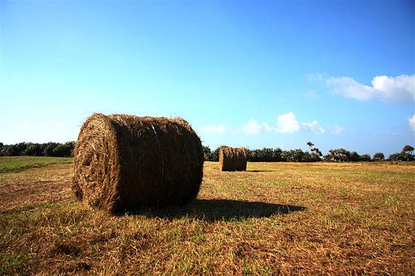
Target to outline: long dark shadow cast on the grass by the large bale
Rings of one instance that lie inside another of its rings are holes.
[[[302,206],[270,204],[257,201],[239,201],[230,199],[195,199],[184,207],[142,208],[123,215],[145,215],[163,219],[192,217],[204,221],[237,221],[252,217],[271,217],[305,210]]]

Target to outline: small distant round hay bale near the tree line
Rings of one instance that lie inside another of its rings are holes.
[[[246,170],[248,154],[245,148],[221,148],[219,166],[221,171]]]

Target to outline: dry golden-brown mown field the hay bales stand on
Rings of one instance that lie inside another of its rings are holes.
[[[414,164],[218,168],[186,208],[116,217],[75,200],[71,164],[1,170],[0,275],[414,275]]]

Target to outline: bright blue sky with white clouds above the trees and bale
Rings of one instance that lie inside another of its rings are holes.
[[[180,116],[203,143],[415,144],[414,1],[0,1],[0,141],[93,112]]]

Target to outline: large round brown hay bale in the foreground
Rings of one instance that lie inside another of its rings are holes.
[[[199,193],[202,144],[180,118],[95,113],[81,128],[74,172],[77,198],[109,213],[183,205]]]

